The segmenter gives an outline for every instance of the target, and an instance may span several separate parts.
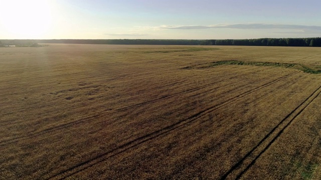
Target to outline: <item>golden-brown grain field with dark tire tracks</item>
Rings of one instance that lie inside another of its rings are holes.
[[[321,179],[321,48],[0,48],[0,179]]]

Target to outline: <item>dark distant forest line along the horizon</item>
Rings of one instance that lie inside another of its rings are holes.
[[[255,46],[321,46],[321,37],[257,39],[0,39],[0,46],[34,43],[76,44],[146,44],[146,45],[255,45]]]

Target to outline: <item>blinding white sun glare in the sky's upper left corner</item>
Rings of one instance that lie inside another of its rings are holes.
[[[9,38],[43,38],[52,27],[51,0],[0,0],[0,23]]]

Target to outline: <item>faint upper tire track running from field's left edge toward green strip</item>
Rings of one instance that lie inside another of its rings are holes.
[[[133,105],[129,105],[129,106],[126,106],[126,107],[121,107],[121,108],[115,109],[114,112],[127,110],[129,108],[133,108],[133,107],[137,107],[137,106],[140,106],[140,105],[145,105],[145,104],[148,104],[148,103],[152,103],[152,102],[156,102],[156,101],[159,101],[159,100],[167,99],[167,98],[174,97],[174,96],[177,96],[177,95],[180,95],[180,94],[183,94],[183,93],[192,92],[192,91],[199,90],[199,89],[205,88],[207,86],[210,86],[210,85],[222,82],[222,81],[230,80],[230,79],[237,78],[237,77],[242,77],[244,75],[252,74],[252,73],[263,71],[263,70],[266,70],[266,69],[270,69],[270,68],[265,68],[265,69],[260,69],[260,70],[256,70],[256,71],[252,71],[252,72],[247,72],[247,73],[244,73],[244,74],[241,74],[241,75],[236,75],[236,76],[229,77],[229,78],[226,78],[226,79],[217,80],[217,81],[214,81],[214,82],[211,82],[211,83],[208,83],[208,84],[205,84],[205,85],[201,85],[201,86],[198,86],[198,87],[193,87],[191,89],[188,89],[188,90],[185,90],[185,91],[182,91],[182,92],[177,92],[177,93],[174,93],[174,94],[171,94],[171,95],[168,95],[168,96],[163,96],[163,97],[159,97],[159,98],[156,98],[156,99],[152,99],[152,100],[136,103],[136,104],[133,104]],[[55,130],[58,130],[58,129],[62,129],[62,128],[65,128],[65,127],[68,127],[68,126],[71,126],[71,125],[83,123],[83,122],[86,122],[86,121],[89,121],[89,120],[92,120],[92,119],[95,119],[95,118],[104,117],[104,116],[106,116],[106,115],[108,115],[110,113],[111,112],[107,112],[106,114],[96,114],[96,115],[84,117],[84,118],[81,118],[81,119],[78,119],[78,120],[75,120],[75,121],[72,121],[72,122],[67,122],[67,123],[63,123],[63,124],[60,124],[60,125],[57,125],[57,126],[54,126],[54,127],[50,127],[50,128],[38,131],[38,132],[30,132],[30,134],[28,134],[28,135],[23,135],[23,136],[19,136],[19,137],[15,137],[15,138],[11,138],[11,139],[6,139],[6,140],[3,140],[3,141],[0,141],[0,144],[2,144],[2,145],[10,144],[10,143],[14,143],[14,142],[17,142],[17,141],[20,141],[20,140],[29,139],[29,138],[32,138],[32,137],[36,137],[36,136],[42,135],[42,134],[47,133],[47,132],[52,132],[52,131],[55,131]]]

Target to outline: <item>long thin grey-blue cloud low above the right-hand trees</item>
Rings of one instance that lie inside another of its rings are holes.
[[[318,25],[296,24],[265,24],[265,23],[238,23],[238,24],[214,24],[214,25],[162,25],[159,29],[207,29],[207,28],[234,28],[234,29],[297,29],[300,31],[321,31]]]

